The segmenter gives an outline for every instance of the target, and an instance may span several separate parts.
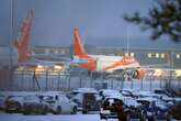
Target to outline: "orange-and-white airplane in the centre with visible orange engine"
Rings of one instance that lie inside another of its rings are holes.
[[[118,70],[132,70],[133,77],[136,79],[142,79],[145,76],[145,70],[140,69],[139,63],[134,57],[88,55],[78,28],[73,30],[73,57],[87,61],[86,64],[80,64],[80,67],[90,72],[114,73]]]

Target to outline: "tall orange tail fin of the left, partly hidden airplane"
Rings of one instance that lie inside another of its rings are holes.
[[[13,42],[13,45],[18,50],[18,54],[19,54],[18,63],[27,62],[30,58],[30,54],[31,54],[30,35],[31,35],[33,15],[34,15],[33,10],[27,12],[27,15],[22,23],[21,36],[20,38],[18,38],[18,41]]]

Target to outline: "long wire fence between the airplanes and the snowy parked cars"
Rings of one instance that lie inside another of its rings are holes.
[[[77,72],[78,73],[78,72]],[[12,77],[11,77],[12,76]],[[11,77],[11,78],[10,78]],[[115,78],[92,78],[84,72],[79,75],[71,75],[68,72],[34,72],[34,70],[9,70],[0,72],[0,89],[1,90],[61,90],[67,91],[81,87],[92,87],[97,89],[138,89],[154,90],[156,88],[165,88],[166,84],[172,85],[174,88],[181,87],[179,78],[170,79],[170,76],[147,76],[142,80],[131,79],[121,80]]]

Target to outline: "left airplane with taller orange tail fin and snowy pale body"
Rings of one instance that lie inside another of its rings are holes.
[[[18,51],[18,65],[23,67],[36,67],[38,65],[45,67],[54,67],[55,65],[77,65],[84,64],[82,59],[68,58],[53,54],[34,54],[30,47],[31,26],[34,16],[34,11],[27,12],[26,18],[23,20],[21,28],[21,35],[13,42],[14,47]]]

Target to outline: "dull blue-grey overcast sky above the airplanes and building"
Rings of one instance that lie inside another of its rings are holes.
[[[26,11],[34,9],[32,46],[68,46],[78,26],[86,44],[124,47],[128,28],[129,47],[181,48],[167,36],[151,41],[149,31],[142,32],[122,18],[135,11],[146,14],[154,4],[155,0],[14,0],[13,38]],[[0,45],[9,45],[10,28],[11,0],[0,0]]]

